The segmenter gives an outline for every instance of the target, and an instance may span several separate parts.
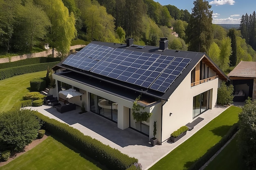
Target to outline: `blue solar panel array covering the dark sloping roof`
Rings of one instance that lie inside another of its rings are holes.
[[[166,92],[191,59],[88,44],[62,63],[159,92]]]

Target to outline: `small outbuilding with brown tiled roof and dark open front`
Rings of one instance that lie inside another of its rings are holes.
[[[228,77],[234,86],[234,102],[256,99],[256,62],[240,61]]]

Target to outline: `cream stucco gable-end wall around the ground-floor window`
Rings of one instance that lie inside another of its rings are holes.
[[[210,109],[216,105],[218,79],[191,87],[191,74],[184,78],[163,106],[162,142],[165,142],[173,131],[193,121],[193,97],[211,89]]]

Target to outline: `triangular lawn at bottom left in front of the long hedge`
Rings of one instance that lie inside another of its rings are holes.
[[[49,136],[32,150],[0,167],[0,170],[101,170],[88,157]],[[105,168],[106,170],[106,168]]]

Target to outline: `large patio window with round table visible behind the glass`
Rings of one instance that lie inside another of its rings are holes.
[[[90,110],[117,122],[118,104],[115,102],[90,93]]]

